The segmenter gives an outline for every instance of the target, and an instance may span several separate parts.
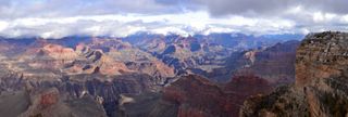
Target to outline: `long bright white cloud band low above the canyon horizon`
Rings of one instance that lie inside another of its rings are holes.
[[[71,35],[124,37],[137,31],[154,34],[210,34],[210,32],[253,32],[263,34],[291,29],[295,24],[282,18],[253,18],[243,16],[211,17],[208,12],[182,14],[113,14],[70,17],[24,17],[7,21],[1,36],[40,36],[61,38]],[[1,25],[0,25],[1,26]]]

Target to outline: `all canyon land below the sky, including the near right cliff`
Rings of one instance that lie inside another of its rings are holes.
[[[202,37],[141,34],[127,38],[1,39],[0,113],[84,117],[343,115],[344,109],[322,110],[321,105],[344,108],[341,104],[346,104],[341,92],[347,73],[346,36],[312,34],[302,42],[235,39],[234,46]],[[316,99],[322,98],[319,95],[324,99]],[[330,99],[338,101],[325,102]],[[295,109],[297,113],[290,113]]]

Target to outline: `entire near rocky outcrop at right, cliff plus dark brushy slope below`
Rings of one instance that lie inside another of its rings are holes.
[[[343,117],[348,114],[348,34],[306,37],[296,55],[296,83],[245,102],[241,117]]]

